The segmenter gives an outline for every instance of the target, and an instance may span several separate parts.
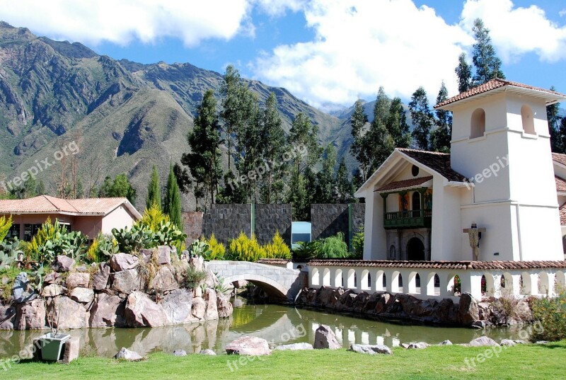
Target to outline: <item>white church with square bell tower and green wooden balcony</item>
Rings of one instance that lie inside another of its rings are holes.
[[[492,79],[436,105],[454,115],[451,154],[395,149],[356,192],[364,260],[475,260],[473,223],[485,229],[480,261],[563,260],[555,172],[566,178],[566,157],[553,161],[546,120],[562,100]]]

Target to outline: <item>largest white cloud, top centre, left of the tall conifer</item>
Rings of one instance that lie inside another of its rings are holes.
[[[456,93],[461,45],[473,43],[459,25],[410,0],[313,0],[305,16],[314,40],[275,47],[254,71],[320,108],[373,98],[379,86],[405,99],[423,86],[432,99],[444,80]]]

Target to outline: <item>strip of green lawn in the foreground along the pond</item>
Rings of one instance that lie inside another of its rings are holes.
[[[393,356],[346,350],[274,351],[269,357],[173,357],[160,352],[142,362],[81,357],[69,365],[23,361],[1,379],[563,379],[566,340],[502,348],[499,357],[468,367],[465,359],[488,347],[395,348]],[[240,364],[241,360],[245,364]],[[228,363],[231,364],[231,371]],[[237,366],[237,367],[236,367]]]

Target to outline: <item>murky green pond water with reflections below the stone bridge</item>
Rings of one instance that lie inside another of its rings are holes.
[[[344,316],[328,311],[296,309],[292,306],[272,304],[246,304],[236,300],[233,315],[220,321],[193,323],[185,326],[164,328],[89,328],[70,330],[81,338],[83,352],[112,357],[126,347],[140,355],[151,352],[185,350],[187,353],[212,349],[224,353],[224,347],[242,335],[254,335],[275,345],[314,341],[314,332],[321,324],[335,331],[343,347],[351,343],[385,344],[395,347],[400,343],[428,342],[436,344],[449,339],[453,343],[467,343],[481,335],[497,342],[502,338],[519,339],[519,328],[446,328],[414,326],[406,323],[371,321]],[[31,345],[33,338],[45,331],[1,331],[0,357],[16,355],[23,347]],[[521,333],[522,335],[522,333]],[[524,337],[523,337],[524,338]]]

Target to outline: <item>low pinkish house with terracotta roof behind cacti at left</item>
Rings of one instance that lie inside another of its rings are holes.
[[[12,217],[8,237],[30,241],[47,218],[59,220],[71,231],[81,231],[91,240],[99,232],[131,227],[141,214],[127,198],[86,198],[64,200],[40,195],[23,200],[0,200],[0,217]]]

